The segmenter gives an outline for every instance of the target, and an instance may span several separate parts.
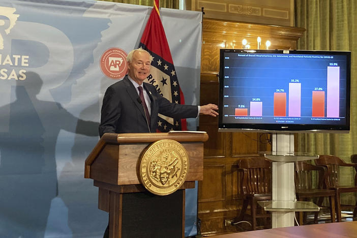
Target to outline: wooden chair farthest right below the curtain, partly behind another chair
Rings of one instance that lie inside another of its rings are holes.
[[[340,167],[354,167],[354,169],[357,169],[357,164],[349,164],[345,163],[343,160],[338,158],[337,156],[332,156],[332,155],[320,155],[318,159],[315,160],[315,163],[317,165],[323,165],[328,169],[329,173],[329,186],[330,189],[334,189],[337,192],[337,197],[336,197],[336,207],[337,207],[337,220],[340,222],[341,221],[341,207],[343,208],[351,208],[354,207],[355,205],[346,205],[346,204],[341,204],[341,199],[340,195],[341,193],[350,193],[350,192],[357,192],[357,176],[354,177],[354,185],[349,185],[349,186],[342,186],[339,184],[338,177],[339,177],[339,168]],[[353,217],[355,217],[355,214],[353,214]]]

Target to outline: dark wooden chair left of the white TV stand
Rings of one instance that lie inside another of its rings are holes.
[[[264,157],[242,158],[238,161],[238,167],[239,171],[243,173],[241,183],[243,206],[240,215],[234,219],[234,223],[244,220],[248,204],[250,204],[252,229],[256,230],[257,218],[268,219],[271,217],[269,213],[257,214],[257,201],[272,200],[271,161]]]

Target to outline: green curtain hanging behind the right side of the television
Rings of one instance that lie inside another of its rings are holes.
[[[357,154],[357,1],[356,0],[295,0],[295,26],[306,29],[298,49],[351,51],[351,130],[349,134],[299,134],[298,148],[317,155],[335,155],[350,162]],[[340,184],[354,184],[354,169],[340,171]],[[354,204],[353,195],[342,202]]]

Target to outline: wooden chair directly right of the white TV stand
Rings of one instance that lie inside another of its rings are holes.
[[[316,175],[318,177],[316,178]],[[317,179],[317,186],[313,186],[313,179]],[[324,197],[329,198],[331,222],[335,222],[336,190],[331,190],[328,185],[328,172],[323,166],[312,165],[303,161],[295,162],[295,193],[299,201],[308,201],[311,198],[320,198],[317,205],[321,206]],[[306,214],[299,212],[299,223],[304,224]],[[315,212],[314,223],[317,223],[318,212]]]

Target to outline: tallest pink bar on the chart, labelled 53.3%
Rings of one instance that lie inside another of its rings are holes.
[[[340,67],[328,67],[327,117],[340,116]]]

